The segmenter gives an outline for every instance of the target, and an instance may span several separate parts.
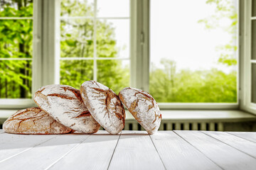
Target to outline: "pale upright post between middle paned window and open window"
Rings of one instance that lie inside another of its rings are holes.
[[[131,0],[131,86],[149,91],[149,0]]]

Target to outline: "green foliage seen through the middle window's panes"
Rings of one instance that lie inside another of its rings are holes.
[[[61,16],[94,16],[93,4],[86,1],[61,1]],[[90,18],[63,20],[60,26],[61,57],[93,57],[93,20]],[[97,57],[117,57],[114,28],[107,21],[97,21]],[[93,79],[93,60],[61,62],[60,83],[80,88],[82,82]],[[117,94],[129,86],[129,68],[121,60],[97,60],[97,81]]]

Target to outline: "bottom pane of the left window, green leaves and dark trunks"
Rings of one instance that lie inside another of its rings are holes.
[[[31,98],[31,60],[0,60],[0,98]]]

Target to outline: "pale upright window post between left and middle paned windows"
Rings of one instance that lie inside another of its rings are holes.
[[[60,0],[43,1],[43,83],[60,81]]]

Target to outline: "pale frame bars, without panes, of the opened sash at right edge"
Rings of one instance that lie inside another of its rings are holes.
[[[251,60],[251,23],[252,20],[256,20],[256,17],[252,17],[252,0],[240,1],[242,8],[241,21],[240,24],[240,74],[242,75],[240,79],[241,84],[241,101],[240,109],[248,111],[250,113],[256,114],[256,104],[251,102],[251,90],[252,90],[252,63],[255,60]],[[256,86],[256,84],[253,84]]]

